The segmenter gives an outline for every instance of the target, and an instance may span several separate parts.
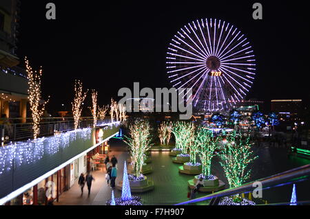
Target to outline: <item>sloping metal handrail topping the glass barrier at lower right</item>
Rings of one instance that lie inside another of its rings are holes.
[[[251,189],[254,189],[253,187],[253,183],[260,181],[260,183],[262,183],[262,187],[270,187],[272,185],[278,185],[282,182],[285,181],[290,181],[290,180],[294,180],[294,178],[298,178],[300,176],[307,176],[307,178],[310,177],[310,164],[308,165],[303,165],[301,167],[298,168],[294,168],[292,170],[287,170],[285,172],[282,172],[280,174],[275,174],[272,176],[267,176],[265,178],[260,178],[256,181],[252,181],[250,183],[245,183],[244,185],[241,185],[240,187],[234,187],[231,189],[225,189],[223,191],[220,192],[216,192],[214,194],[209,194],[207,196],[203,196],[200,198],[195,198],[192,200],[188,200],[186,202],[183,203],[178,203],[176,205],[185,205],[185,204],[189,204],[189,203],[198,203],[200,201],[203,200],[209,200],[211,198],[216,198],[216,197],[220,197],[220,196],[231,196],[234,194],[240,194],[240,193],[244,193],[244,192],[249,192]]]

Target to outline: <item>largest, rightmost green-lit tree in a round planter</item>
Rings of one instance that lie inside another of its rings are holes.
[[[249,137],[242,137],[236,132],[227,136],[227,142],[223,152],[220,154],[220,165],[223,167],[230,187],[239,187],[249,178],[251,170],[249,164],[258,158],[253,156]]]

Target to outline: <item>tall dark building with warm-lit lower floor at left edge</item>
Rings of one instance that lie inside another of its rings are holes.
[[[26,122],[28,81],[16,54],[20,5],[18,0],[0,2],[0,114]]]

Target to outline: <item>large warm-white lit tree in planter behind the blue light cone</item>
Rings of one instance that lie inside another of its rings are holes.
[[[129,135],[125,135],[125,142],[130,146],[130,157],[135,176],[141,176],[142,167],[146,159],[145,152],[151,146],[149,122],[141,120],[129,126]]]

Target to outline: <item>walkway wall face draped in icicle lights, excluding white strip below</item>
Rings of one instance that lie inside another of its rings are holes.
[[[118,132],[117,126],[107,128],[103,139]],[[70,135],[70,132],[66,132]],[[35,179],[58,168],[78,154],[94,146],[94,131],[89,138],[76,134],[75,139],[70,137],[66,146],[63,141],[55,137],[41,139],[43,143],[30,145],[21,142],[12,146],[0,147],[0,198],[14,192]],[[58,135],[56,135],[58,136]],[[36,142],[39,140],[37,139]],[[14,150],[13,150],[14,149]],[[52,174],[52,172],[50,172]]]

